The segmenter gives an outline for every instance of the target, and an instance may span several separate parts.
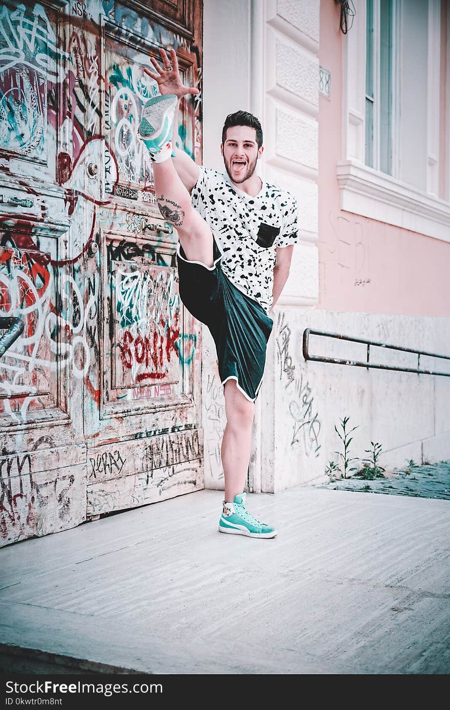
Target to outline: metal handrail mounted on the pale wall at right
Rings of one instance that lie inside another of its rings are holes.
[[[322,355],[311,355],[309,353],[309,336],[310,335],[322,335],[327,338],[338,338],[339,340],[350,340],[354,343],[365,343],[367,344],[367,361],[359,362],[358,360],[341,360],[339,358],[324,357]],[[406,353],[414,353],[418,356],[417,368],[411,367],[396,367],[394,365],[379,365],[376,363],[371,363],[370,359],[370,346],[375,345],[379,348],[389,348],[392,350],[400,350]],[[336,365],[355,365],[358,367],[373,367],[380,370],[396,370],[400,372],[414,372],[419,375],[441,375],[443,377],[450,377],[450,372],[436,372],[434,370],[421,370],[420,369],[420,356],[426,355],[427,357],[440,357],[444,360],[450,360],[450,355],[440,355],[438,353],[428,353],[424,350],[414,350],[412,348],[404,348],[400,345],[389,345],[387,343],[379,343],[375,340],[365,340],[364,338],[354,338],[350,335],[341,335],[339,333],[329,333],[325,330],[313,330],[312,328],[306,328],[303,334],[303,356],[305,360],[315,360],[317,362],[330,362]]]

